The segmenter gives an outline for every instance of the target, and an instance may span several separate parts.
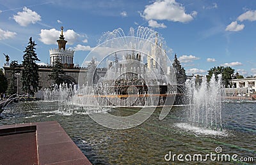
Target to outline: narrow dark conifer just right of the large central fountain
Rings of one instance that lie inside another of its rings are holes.
[[[174,55],[172,66],[177,78],[177,85],[184,85],[184,83],[186,82],[186,71],[184,67],[181,66],[176,54]]]

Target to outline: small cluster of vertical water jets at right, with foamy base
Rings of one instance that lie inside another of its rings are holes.
[[[216,81],[212,76],[210,82],[202,78],[196,83],[195,77],[186,81],[187,122],[176,124],[177,127],[199,134],[223,135],[221,120],[221,75]]]

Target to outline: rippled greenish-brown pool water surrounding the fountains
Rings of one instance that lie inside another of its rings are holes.
[[[138,110],[116,108],[109,113],[127,116]],[[159,114],[157,109],[140,126],[115,130],[100,126],[84,112],[61,112],[54,102],[19,102],[5,108],[0,124],[57,120],[93,164],[240,164],[164,160],[170,151],[205,155],[215,153],[216,147],[222,148],[222,154],[253,157],[254,162],[247,163],[256,163],[256,103],[223,103],[223,131],[217,132],[186,124],[182,106],[173,107],[164,120],[159,120]]]

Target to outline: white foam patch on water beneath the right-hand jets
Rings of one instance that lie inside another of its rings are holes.
[[[227,131],[216,131],[212,129],[207,129],[204,127],[196,127],[192,126],[188,123],[176,123],[175,126],[179,127],[180,129],[185,129],[186,131],[192,131],[193,133],[199,135],[211,135],[211,136],[228,136]]]

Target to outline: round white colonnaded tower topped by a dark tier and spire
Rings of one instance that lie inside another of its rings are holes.
[[[55,59],[61,59],[61,63],[66,68],[73,68],[74,67],[74,50],[66,50],[66,43],[67,41],[64,38],[63,35],[63,27],[61,27],[61,34],[60,39],[57,40],[58,43],[58,49],[51,49],[50,52],[50,64],[54,62]]]

